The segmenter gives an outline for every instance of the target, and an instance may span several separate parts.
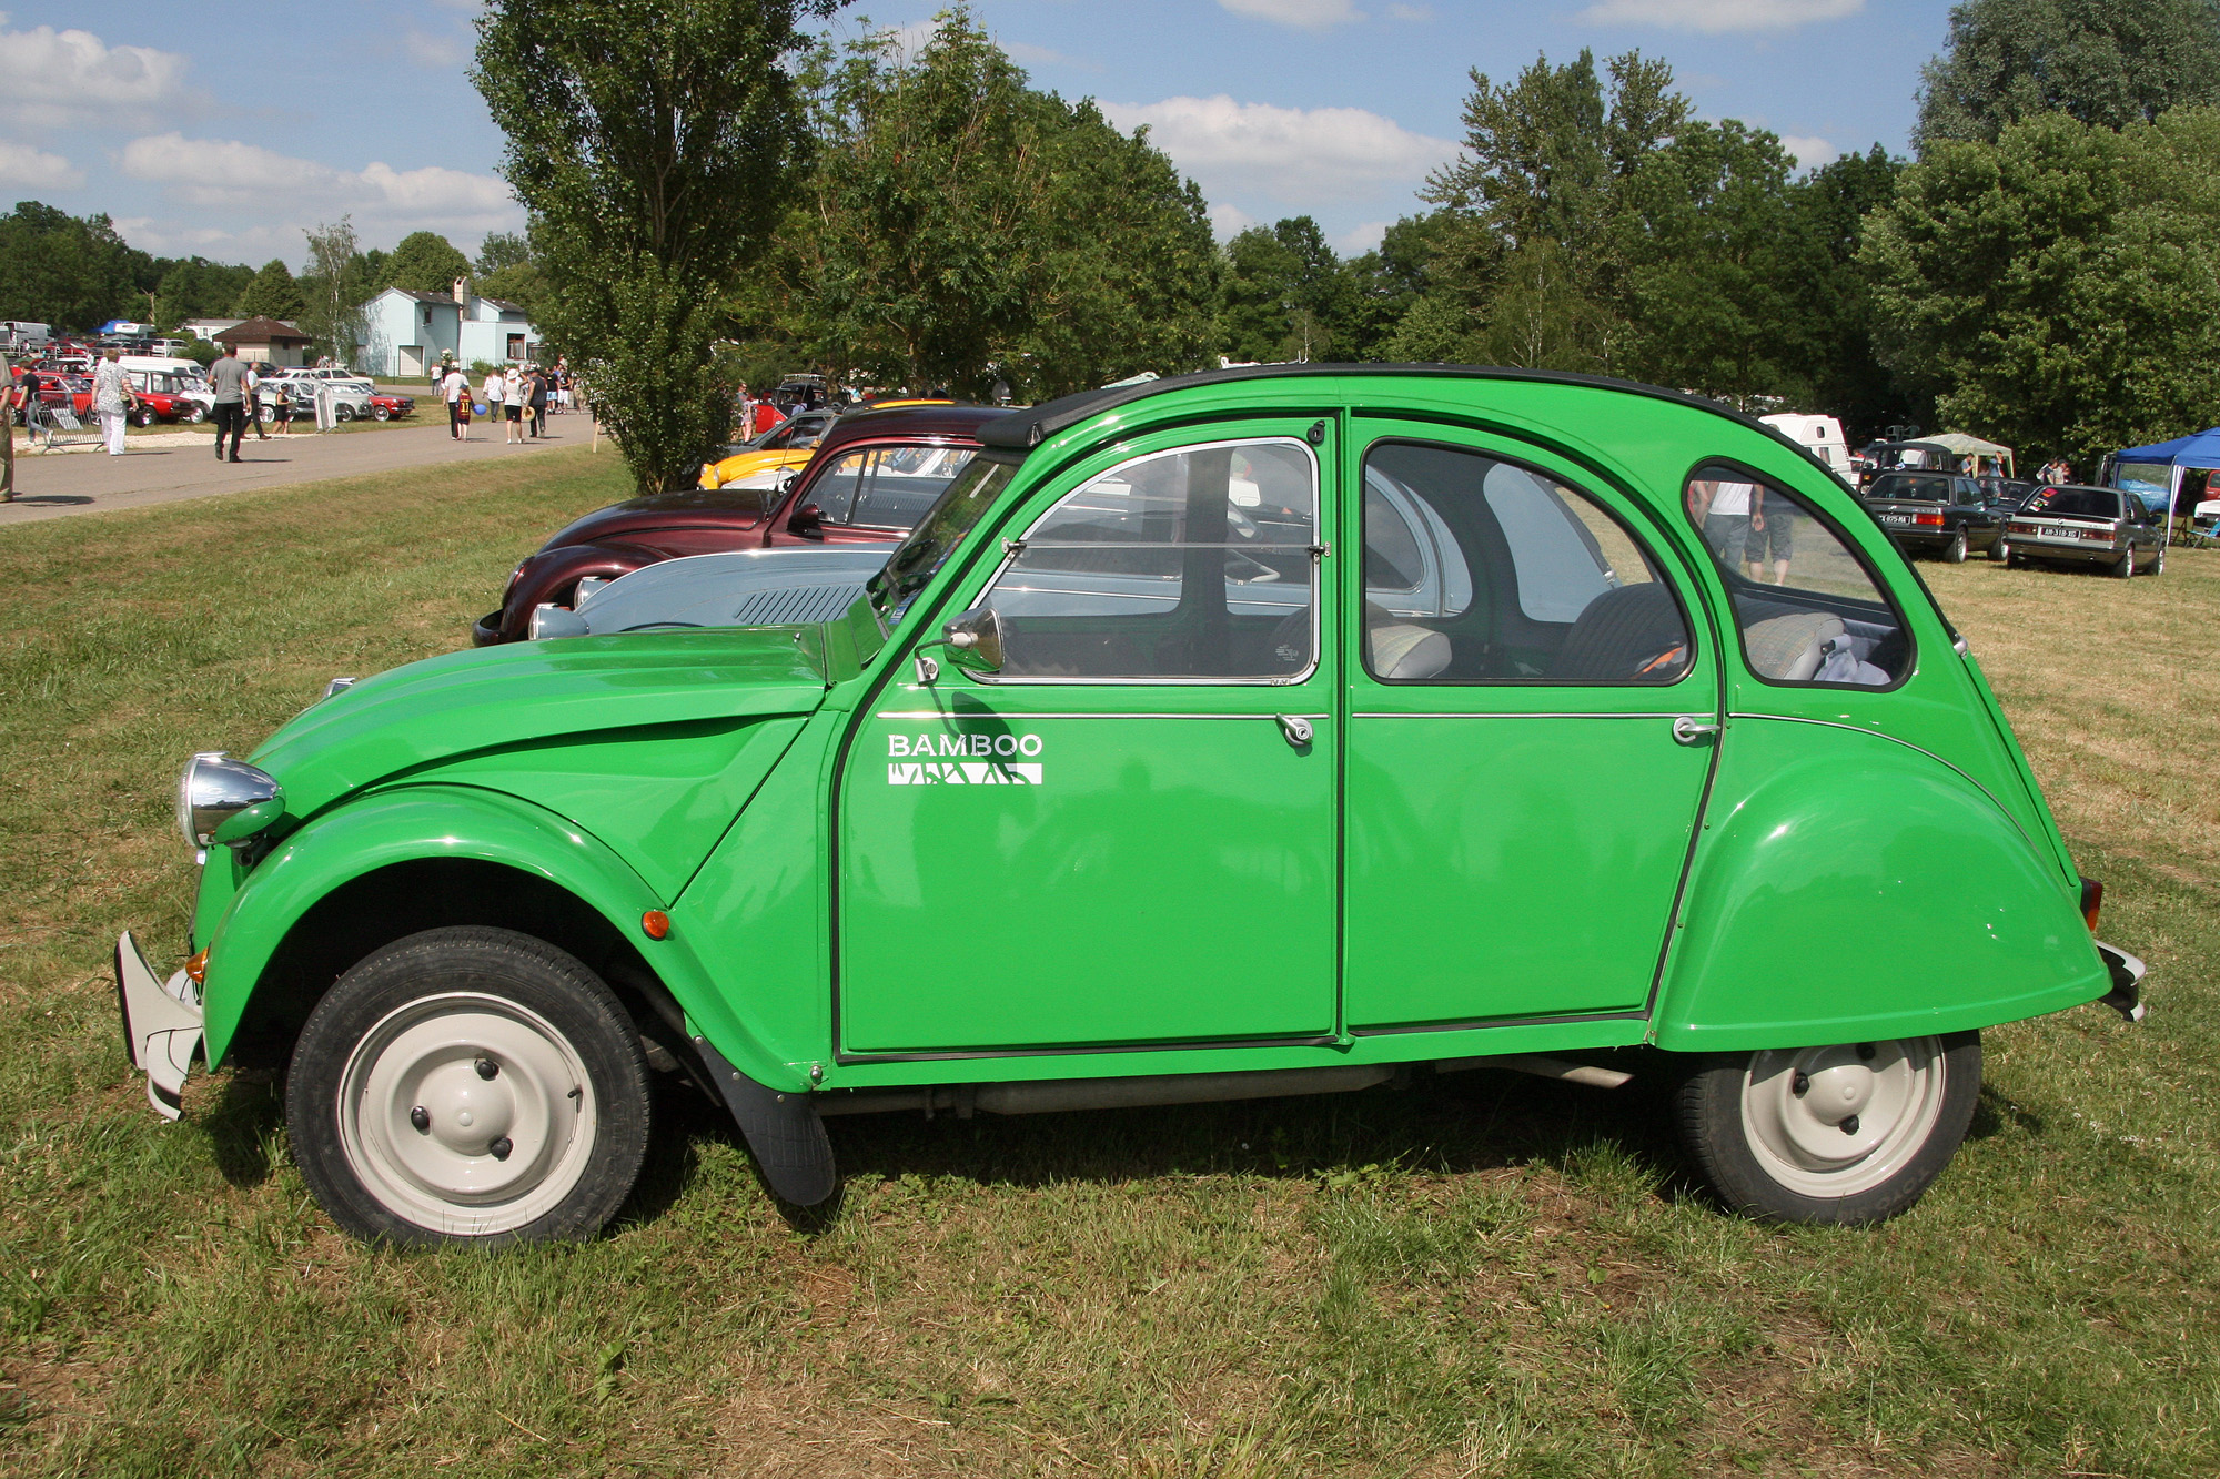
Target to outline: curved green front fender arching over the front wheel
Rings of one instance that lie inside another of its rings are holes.
[[[568,891],[639,950],[693,1028],[735,1068],[775,1090],[808,1088],[733,1013],[684,928],[666,939],[646,935],[639,919],[662,902],[608,844],[513,795],[444,784],[395,786],[349,802],[286,837],[242,879],[209,939],[202,995],[209,1062],[222,1062],[302,915],[342,884],[422,859],[502,864]]]

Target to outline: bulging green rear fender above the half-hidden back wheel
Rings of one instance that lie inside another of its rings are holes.
[[[1736,717],[1652,1039],[1923,1037],[2109,986],[2056,866],[1971,779],[1880,733]]]

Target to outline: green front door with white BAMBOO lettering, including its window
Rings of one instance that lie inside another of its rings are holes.
[[[1050,482],[837,782],[848,1055],[1323,1042],[1336,742],[1325,422],[1159,433]]]

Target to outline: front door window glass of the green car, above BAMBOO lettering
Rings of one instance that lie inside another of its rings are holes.
[[[1041,515],[986,593],[1001,677],[1299,677],[1316,653],[1316,462],[1292,437],[1114,466]]]

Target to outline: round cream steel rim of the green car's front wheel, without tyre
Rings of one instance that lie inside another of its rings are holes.
[[[482,993],[424,997],[355,1044],[340,1146],[380,1204],[460,1237],[515,1232],[586,1170],[599,1106],[577,1048]]]

